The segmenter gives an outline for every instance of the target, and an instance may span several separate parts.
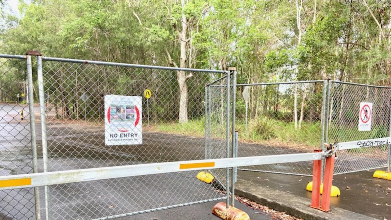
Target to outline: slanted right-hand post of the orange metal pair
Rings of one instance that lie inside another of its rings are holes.
[[[335,154],[326,158],[325,175],[323,177],[323,197],[320,209],[330,211],[331,186],[333,184]]]

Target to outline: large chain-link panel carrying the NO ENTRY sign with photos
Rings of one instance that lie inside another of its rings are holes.
[[[205,158],[205,85],[226,72],[40,59],[46,171]],[[226,90],[222,93],[211,105],[229,105]],[[105,126],[112,129],[106,138]],[[218,128],[222,136],[213,152],[224,157],[226,126]],[[133,136],[127,136],[129,131]],[[47,215],[107,219],[225,198],[196,175],[187,171],[53,185],[47,188]],[[217,176],[225,179],[224,172]]]

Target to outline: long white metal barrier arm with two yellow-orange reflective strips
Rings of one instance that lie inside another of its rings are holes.
[[[136,164],[90,168],[83,170],[67,170],[47,173],[30,173],[13,176],[0,176],[0,190],[49,186],[72,182],[114,179],[180,171],[229,168],[239,166],[255,166],[264,164],[288,163],[321,160],[324,152],[296,153],[283,155],[266,155],[256,157],[237,157],[208,160],[188,160],[152,164]]]

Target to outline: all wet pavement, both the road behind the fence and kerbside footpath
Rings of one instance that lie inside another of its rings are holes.
[[[28,118],[20,122],[19,112],[22,108],[24,109],[25,117],[28,117],[28,106],[4,104],[0,106],[0,115],[2,117],[2,121],[0,122],[0,128],[2,128],[0,130],[2,134],[2,139],[0,140],[0,161],[3,166],[1,168],[1,175],[28,173],[32,170],[31,150],[26,148],[26,145],[29,145],[30,142],[30,127]],[[35,106],[34,109],[36,118],[38,119],[39,108]],[[38,168],[39,171],[43,171],[40,138],[41,127],[39,120],[36,120],[36,129]],[[142,147],[105,146],[101,125],[85,125],[83,123],[69,124],[66,121],[57,121],[56,123],[48,123],[47,130],[50,171],[119,166],[145,162],[203,159],[204,157],[204,141],[198,137],[145,131]],[[221,145],[219,141],[215,141],[214,144],[216,146]],[[278,153],[287,152],[285,148],[281,147],[274,147],[273,151],[270,152],[259,149],[259,144],[244,144],[239,151],[239,156],[243,152],[250,153],[249,155],[273,154],[276,150]],[[300,153],[307,151],[308,149],[296,150],[294,152]],[[220,153],[224,157],[225,153],[223,151]],[[213,156],[216,158],[219,155]],[[269,169],[310,173],[310,169],[312,168],[311,164],[311,162],[302,162],[268,166]],[[217,179],[221,179],[224,177],[225,170],[219,169],[213,170],[213,172],[218,177]],[[209,184],[204,184],[195,179],[196,174],[196,171],[190,171],[50,186],[51,215],[54,219],[81,220],[121,215],[134,211],[220,198],[223,196],[215,190],[218,186],[217,183],[214,187]],[[387,211],[389,211],[388,204],[391,204],[391,201],[389,201],[390,191],[388,190],[388,188],[391,188],[389,183],[391,181],[373,180],[370,176],[371,173],[366,173],[366,171],[335,176],[334,185],[339,186],[343,196],[333,198],[332,206],[338,206],[368,216],[376,216],[379,219],[383,219],[382,216],[386,217]],[[310,193],[305,191],[305,185],[310,181],[310,177],[239,171],[238,179],[310,198]],[[41,188],[40,191],[41,213],[43,215],[43,189]],[[20,197],[20,195],[24,196]],[[5,216],[12,215],[18,216],[15,219],[27,219],[25,218],[26,216],[32,216],[32,213],[29,211],[34,205],[32,189],[1,191],[0,197],[2,198],[0,200],[0,213],[2,213],[0,217],[4,215],[2,217],[3,219],[7,219]],[[206,209],[207,205],[200,204],[195,207],[197,206]],[[208,210],[210,208],[208,207]],[[182,218],[178,219],[183,219],[192,213],[188,211],[190,209],[193,209],[192,206],[169,210],[182,216]],[[156,213],[170,213],[169,210]],[[194,208],[194,210],[197,209]],[[210,213],[210,211],[206,213]],[[194,214],[197,215],[197,211],[194,211]],[[129,219],[144,219],[143,216],[136,215],[129,217]],[[147,214],[147,216],[151,216],[149,219],[156,218],[153,217],[155,215],[152,215],[152,213]],[[387,218],[390,219],[391,216],[387,216]],[[33,219],[33,217],[28,219]],[[175,218],[161,217],[161,219]],[[205,216],[204,219],[213,218]]]

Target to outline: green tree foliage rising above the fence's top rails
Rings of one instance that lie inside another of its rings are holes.
[[[389,85],[391,8],[368,4],[318,1],[315,10],[313,1],[305,1],[298,18],[294,1],[190,0],[184,7],[173,0],[20,2],[21,18],[1,11],[0,49],[171,65],[166,50],[178,63],[184,14],[188,67],[236,66],[242,82],[329,77]]]

